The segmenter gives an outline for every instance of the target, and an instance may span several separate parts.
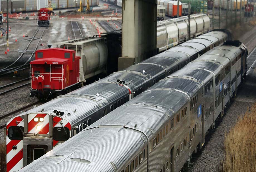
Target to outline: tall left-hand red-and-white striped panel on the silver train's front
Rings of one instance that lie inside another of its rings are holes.
[[[21,117],[15,117],[10,119],[6,124],[6,171],[13,172],[18,171],[23,166],[23,140],[10,140],[8,138],[8,128],[11,126],[24,127],[24,120]],[[13,146],[17,146],[16,150],[13,150]]]

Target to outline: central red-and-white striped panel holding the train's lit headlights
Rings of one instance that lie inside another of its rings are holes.
[[[43,122],[35,122],[34,118],[44,118]],[[40,125],[41,130],[37,130],[36,126]],[[28,115],[28,133],[30,134],[49,134],[49,115],[45,113],[35,113]]]

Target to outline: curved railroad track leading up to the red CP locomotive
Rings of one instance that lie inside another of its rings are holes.
[[[30,39],[26,48],[21,52],[21,55],[7,67],[0,69],[0,76],[12,73],[14,71],[24,70],[29,68],[29,62],[35,54],[35,51],[43,37],[46,28],[39,27],[33,37]]]

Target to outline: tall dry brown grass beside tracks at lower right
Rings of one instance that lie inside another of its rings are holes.
[[[256,171],[256,104],[225,134],[223,171]]]

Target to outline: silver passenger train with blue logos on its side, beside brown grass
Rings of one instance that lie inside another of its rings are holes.
[[[178,172],[247,71],[241,42],[215,47],[20,172]]]

